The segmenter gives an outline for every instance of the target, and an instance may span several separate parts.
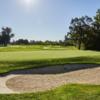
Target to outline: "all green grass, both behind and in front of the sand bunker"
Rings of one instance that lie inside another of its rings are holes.
[[[67,63],[100,64],[100,52],[60,46],[9,46],[0,48],[0,73]],[[65,85],[55,90],[0,95],[0,100],[100,100],[100,86]]]

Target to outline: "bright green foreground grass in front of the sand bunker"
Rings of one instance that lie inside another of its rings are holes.
[[[57,89],[40,93],[1,94],[0,100],[100,100],[100,86],[64,85]]]

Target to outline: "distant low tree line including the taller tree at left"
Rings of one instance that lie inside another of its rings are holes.
[[[7,46],[8,44],[11,45],[61,45],[61,46],[68,46],[72,45],[68,41],[35,41],[35,40],[28,40],[28,39],[18,39],[14,41],[10,41],[15,34],[12,33],[12,29],[10,27],[3,27],[1,28],[0,32],[0,46]]]

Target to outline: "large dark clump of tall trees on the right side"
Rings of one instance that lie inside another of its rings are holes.
[[[100,9],[95,17],[76,17],[71,20],[65,36],[79,49],[100,50]]]

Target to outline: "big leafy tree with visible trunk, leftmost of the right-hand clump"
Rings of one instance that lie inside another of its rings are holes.
[[[78,46],[78,49],[81,49],[82,44],[86,44],[92,22],[92,18],[88,16],[76,17],[71,20],[68,36],[74,41],[75,45]]]

